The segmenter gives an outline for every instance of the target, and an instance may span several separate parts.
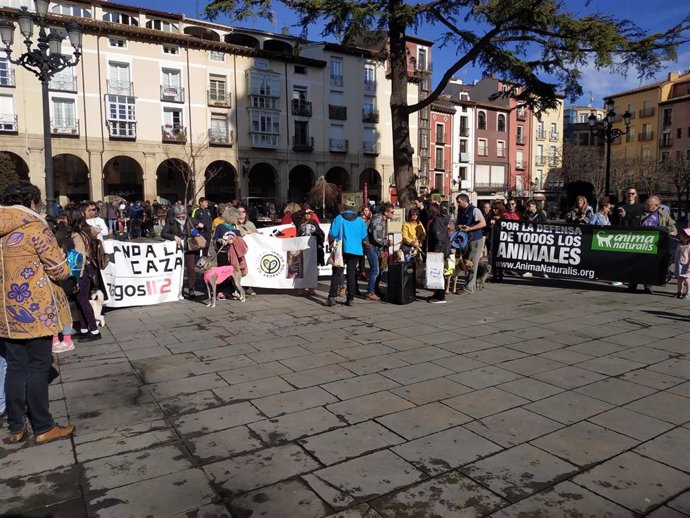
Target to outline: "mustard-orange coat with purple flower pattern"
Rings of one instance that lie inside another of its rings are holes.
[[[53,336],[72,324],[58,284],[70,276],[70,268],[41,216],[19,205],[0,207],[0,265],[0,336]]]

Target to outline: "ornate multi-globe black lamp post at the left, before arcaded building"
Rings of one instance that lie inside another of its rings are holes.
[[[19,31],[24,36],[26,52],[19,58],[12,59],[12,44],[14,43],[14,23],[7,19],[0,19],[0,39],[5,45],[7,60],[20,65],[34,74],[41,82],[41,94],[43,99],[43,151],[46,175],[46,205],[47,213],[51,216],[57,214],[55,205],[55,179],[53,177],[53,149],[50,133],[50,99],[48,96],[48,84],[55,74],[68,67],[76,66],[81,57],[82,27],[78,23],[69,23],[65,27],[69,41],[74,48],[73,58],[62,54],[63,36],[55,29],[48,28],[49,0],[34,0],[36,13],[30,13],[26,7],[22,7],[19,15]],[[34,33],[34,24],[38,25],[38,38],[36,47],[31,40]]]

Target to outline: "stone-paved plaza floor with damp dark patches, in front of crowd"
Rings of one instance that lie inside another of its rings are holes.
[[[690,516],[674,288],[509,279],[446,305],[261,290],[111,311],[51,386],[73,440],[0,446],[0,515]]]

